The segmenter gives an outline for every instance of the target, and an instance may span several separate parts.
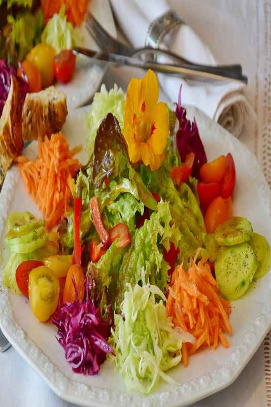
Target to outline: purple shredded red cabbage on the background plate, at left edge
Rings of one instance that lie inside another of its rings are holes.
[[[12,75],[14,75],[20,83],[22,103],[24,102],[26,93],[29,92],[28,83],[25,79],[17,76],[14,65],[11,64],[9,67],[6,61],[0,59],[0,117],[9,94]]]

